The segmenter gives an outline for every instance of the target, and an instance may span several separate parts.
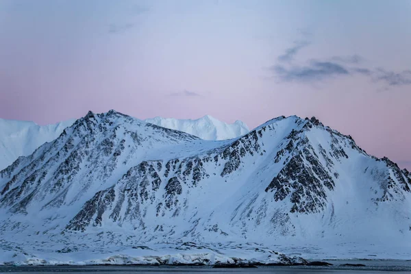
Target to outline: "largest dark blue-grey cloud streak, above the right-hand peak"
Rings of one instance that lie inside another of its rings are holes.
[[[271,69],[285,82],[312,82],[349,74],[349,71],[340,64],[319,61],[312,61],[307,66],[276,65]]]

